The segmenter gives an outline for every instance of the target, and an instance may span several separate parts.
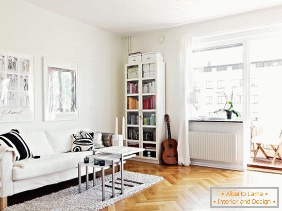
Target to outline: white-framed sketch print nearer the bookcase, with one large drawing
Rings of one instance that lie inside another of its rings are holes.
[[[44,57],[45,121],[78,119],[78,65]]]

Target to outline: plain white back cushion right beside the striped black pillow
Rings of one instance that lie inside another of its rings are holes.
[[[20,135],[33,152],[33,156],[52,156],[55,154],[44,131],[23,130]]]

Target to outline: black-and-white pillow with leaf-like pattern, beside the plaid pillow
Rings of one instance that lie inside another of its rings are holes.
[[[90,151],[93,149],[93,139],[89,133],[72,134],[72,152]]]

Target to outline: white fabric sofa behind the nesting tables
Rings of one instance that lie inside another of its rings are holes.
[[[13,163],[12,152],[5,152],[0,159],[1,207],[5,207],[7,196],[33,190],[45,185],[59,183],[78,177],[78,162],[92,151],[70,152],[71,134],[78,130],[19,131],[39,159],[28,159]],[[92,168],[89,173],[93,173]],[[82,175],[85,175],[83,168]]]

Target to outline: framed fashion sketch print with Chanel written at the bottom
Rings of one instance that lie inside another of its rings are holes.
[[[34,120],[34,56],[0,49],[0,123]]]

